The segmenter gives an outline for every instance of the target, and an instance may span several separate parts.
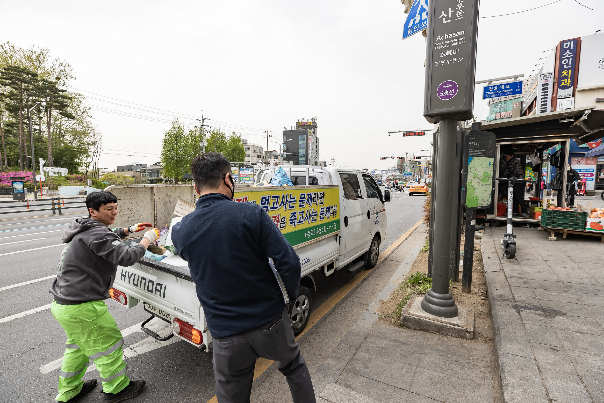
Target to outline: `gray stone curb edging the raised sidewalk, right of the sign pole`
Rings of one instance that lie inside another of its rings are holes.
[[[549,399],[533,349],[490,231],[488,234],[485,231],[481,252],[495,337],[495,358],[500,373],[501,399],[504,403],[547,403]]]

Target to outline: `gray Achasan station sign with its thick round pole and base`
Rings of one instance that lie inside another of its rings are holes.
[[[429,248],[432,288],[421,306],[423,311],[445,318],[458,315],[449,292],[449,256],[454,243],[451,218],[458,213],[453,211],[450,198],[456,191],[455,175],[460,175],[452,169],[458,152],[457,122],[473,117],[478,3],[479,0],[431,0],[428,4],[423,115],[429,123],[439,123],[439,161]]]

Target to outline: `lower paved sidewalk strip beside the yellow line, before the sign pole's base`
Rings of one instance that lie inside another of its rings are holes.
[[[405,279],[424,243],[422,236],[313,374],[318,402],[495,401],[490,344],[376,323],[373,312]]]

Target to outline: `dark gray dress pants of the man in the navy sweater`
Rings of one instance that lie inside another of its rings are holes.
[[[316,403],[308,367],[294,339],[287,308],[281,317],[234,336],[214,338],[214,376],[218,403],[248,403],[259,357],[279,361],[294,403]]]

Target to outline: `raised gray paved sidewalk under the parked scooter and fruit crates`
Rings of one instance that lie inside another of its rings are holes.
[[[597,237],[487,227],[484,274],[506,403],[604,402],[604,245]]]

